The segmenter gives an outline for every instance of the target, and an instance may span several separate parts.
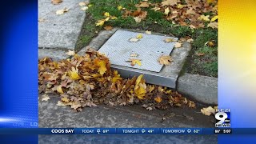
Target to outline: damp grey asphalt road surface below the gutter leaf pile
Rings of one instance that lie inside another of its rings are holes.
[[[75,112],[57,106],[59,98],[38,101],[39,127],[214,127],[214,117],[197,109],[174,107],[148,111],[142,106],[86,107]],[[216,135],[39,135],[39,143],[217,143]]]

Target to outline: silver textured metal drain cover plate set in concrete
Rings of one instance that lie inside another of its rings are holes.
[[[175,42],[166,43],[164,40],[173,37],[142,34],[143,38],[138,42],[129,41],[130,38],[136,38],[138,34],[142,33],[117,30],[98,51],[106,54],[113,65],[159,72],[162,65],[158,63],[158,58],[161,55],[170,55],[175,44]],[[178,40],[178,38],[173,39]],[[130,54],[138,54],[138,57],[130,57]],[[126,62],[130,58],[140,59],[142,66],[130,66],[130,62]]]

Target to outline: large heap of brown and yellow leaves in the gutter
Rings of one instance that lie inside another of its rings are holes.
[[[60,95],[58,106],[71,106],[77,111],[100,103],[110,106],[141,103],[147,110],[195,107],[194,102],[178,92],[148,85],[142,77],[122,78],[118,71],[110,69],[109,58],[94,50],[87,50],[84,56],[74,54],[73,58],[60,62],[50,58],[38,60],[39,94]]]

